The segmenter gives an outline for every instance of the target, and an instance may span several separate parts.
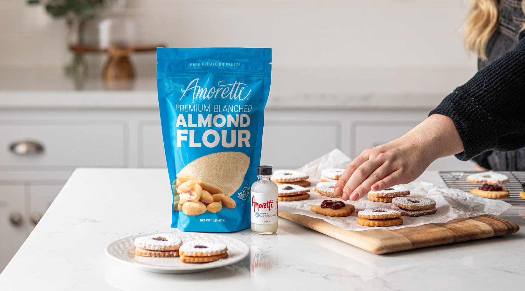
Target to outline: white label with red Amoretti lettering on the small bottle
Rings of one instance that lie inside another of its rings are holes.
[[[259,225],[277,223],[277,198],[275,193],[251,192],[251,222]]]

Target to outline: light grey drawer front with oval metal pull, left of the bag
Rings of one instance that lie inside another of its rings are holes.
[[[30,121],[0,123],[0,166],[125,166],[123,123]],[[30,140],[44,152],[20,155],[10,145]]]

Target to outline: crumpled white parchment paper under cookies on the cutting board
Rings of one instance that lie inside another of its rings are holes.
[[[324,221],[331,223],[334,226],[340,227],[344,230],[368,230],[368,229],[397,229],[403,227],[420,226],[426,223],[447,222],[456,218],[466,218],[484,214],[500,215],[501,212],[507,210],[511,204],[497,199],[483,198],[474,194],[463,192],[459,189],[449,189],[440,186],[435,186],[432,183],[426,182],[412,182],[404,185],[410,191],[410,197],[426,197],[436,201],[437,212],[433,215],[424,215],[418,217],[403,216],[403,224],[389,227],[364,227],[358,225],[357,212],[370,207],[386,207],[390,208],[390,203],[372,202],[366,199],[366,196],[356,202],[351,200],[345,201],[347,204],[355,206],[355,211],[350,216],[346,217],[330,217],[316,214],[311,211],[312,205],[318,205],[323,200],[342,200],[341,198],[330,198],[317,194],[313,189],[320,181],[321,170],[330,167],[345,168],[352,160],[344,155],[340,150],[333,150],[328,154],[321,156],[300,169],[299,171],[308,173],[310,178],[308,181],[312,182],[310,188],[311,197],[306,200],[293,202],[279,202],[279,211],[289,214],[302,214],[314,218],[321,218]]]

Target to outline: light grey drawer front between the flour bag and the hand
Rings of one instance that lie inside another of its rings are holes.
[[[341,126],[335,121],[266,121],[261,164],[297,169],[331,150],[341,149]]]

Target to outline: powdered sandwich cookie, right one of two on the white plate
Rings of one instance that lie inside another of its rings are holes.
[[[228,247],[222,242],[193,240],[178,250],[183,263],[205,263],[228,258]]]

